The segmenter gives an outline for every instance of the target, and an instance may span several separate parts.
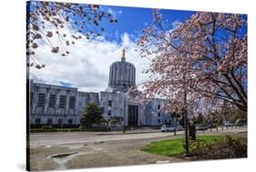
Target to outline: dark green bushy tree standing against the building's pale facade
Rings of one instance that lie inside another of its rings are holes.
[[[92,127],[94,124],[99,124],[104,121],[103,109],[100,106],[97,106],[96,103],[88,103],[87,107],[84,109],[83,116],[81,116],[81,125]]]

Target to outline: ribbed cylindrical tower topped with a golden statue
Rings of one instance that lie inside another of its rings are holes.
[[[110,66],[108,87],[114,92],[127,92],[130,86],[135,86],[135,75],[135,66],[126,62],[125,50],[123,49],[121,61],[114,62]]]

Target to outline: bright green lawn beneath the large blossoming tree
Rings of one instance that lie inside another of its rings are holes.
[[[225,136],[198,136],[197,139],[204,140],[207,144],[211,144],[223,137]],[[152,142],[142,150],[168,157],[178,156],[184,152],[182,140],[183,138],[177,138],[172,140]]]

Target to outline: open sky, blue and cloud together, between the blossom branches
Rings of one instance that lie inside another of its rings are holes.
[[[40,70],[31,68],[30,77],[35,82],[72,86],[81,91],[103,91],[108,87],[109,66],[120,60],[123,48],[126,48],[127,61],[136,67],[137,84],[148,80],[142,71],[149,65],[136,49],[142,29],[153,22],[152,9],[108,5],[100,7],[114,15],[118,24],[103,21],[100,23],[105,28],[103,35],[89,40],[82,35],[81,40],[68,47],[70,55],[67,57],[51,53],[49,46],[40,46],[36,57],[46,67]],[[196,12],[164,9],[160,13],[170,30],[174,24],[186,21]],[[247,28],[241,32],[247,33]]]

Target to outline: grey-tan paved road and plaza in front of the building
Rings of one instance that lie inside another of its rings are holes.
[[[198,135],[247,135],[247,128],[218,131],[212,129]],[[174,157],[150,154],[140,149],[150,142],[184,137],[182,131],[36,133],[30,135],[31,170],[82,167],[112,167],[183,162]],[[55,158],[58,157],[58,158]]]

